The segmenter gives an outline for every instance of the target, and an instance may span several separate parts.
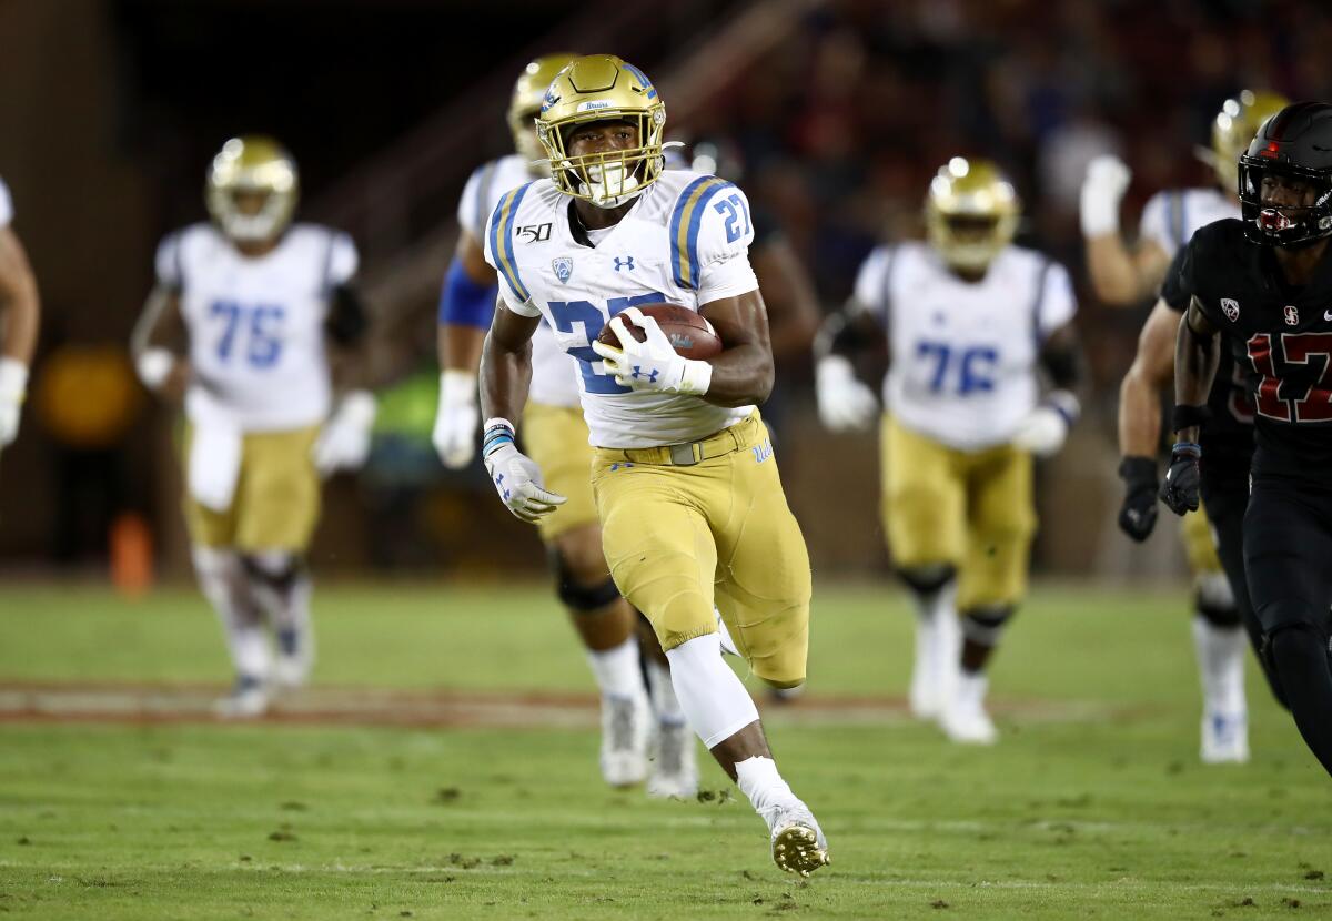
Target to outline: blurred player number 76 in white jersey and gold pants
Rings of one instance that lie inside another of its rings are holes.
[[[819,341],[819,415],[863,429],[878,405],[850,355],[887,335],[883,516],[919,615],[910,703],[960,743],[996,739],[984,668],[1026,592],[1032,455],[1058,451],[1078,417],[1072,285],[1012,245],[1018,217],[992,164],[954,157],[930,184],[928,245],[875,249]],[[1044,399],[1040,367],[1055,386]]]

